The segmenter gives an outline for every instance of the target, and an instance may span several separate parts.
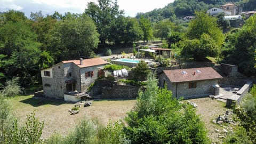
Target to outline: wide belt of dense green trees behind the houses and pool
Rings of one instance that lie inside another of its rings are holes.
[[[178,0],[169,6],[177,7],[179,3],[188,2],[196,1]],[[195,4],[205,2],[213,3],[201,1]],[[246,5],[252,1],[243,2],[247,2]],[[2,12],[0,84],[4,85],[13,77],[20,77],[22,86],[40,83],[40,70],[62,60],[92,58],[98,47],[132,45],[153,38],[166,42],[163,47],[172,49],[179,57],[202,61],[210,56],[218,62],[238,65],[243,74],[255,75],[255,16],[246,20],[243,27],[233,30],[231,22],[223,19],[223,15],[210,17],[203,11],[194,13],[196,18],[190,22],[172,22],[170,19],[151,22],[144,15],[138,19],[125,17],[117,1],[111,0],[90,2],[80,14],[55,12],[43,15],[38,11],[31,12],[27,18],[20,11]]]

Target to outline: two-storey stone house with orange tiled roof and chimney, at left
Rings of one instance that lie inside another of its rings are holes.
[[[61,61],[51,68],[41,70],[45,97],[64,99],[64,96],[69,94],[79,96],[81,99],[87,87],[98,76],[103,75],[103,66],[107,64],[108,62],[101,58],[81,58]]]

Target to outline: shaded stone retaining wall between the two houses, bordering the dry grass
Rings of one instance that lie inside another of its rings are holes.
[[[107,98],[136,98],[139,87],[131,85],[113,85],[112,87],[102,88],[103,99]]]

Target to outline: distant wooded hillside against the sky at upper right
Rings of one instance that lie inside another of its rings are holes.
[[[195,11],[206,11],[214,6],[220,6],[225,3],[235,3],[243,7],[243,11],[256,10],[255,0],[175,0],[173,3],[167,4],[162,9],[154,9],[147,13],[138,13],[136,18],[143,15],[152,22],[170,19],[174,21],[176,18],[182,18],[187,15],[194,15]]]

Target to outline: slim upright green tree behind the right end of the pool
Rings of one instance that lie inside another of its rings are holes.
[[[151,23],[148,19],[144,18],[143,16],[140,17],[140,27],[143,31],[143,41],[147,41],[148,39],[153,37],[153,31],[151,28]]]

